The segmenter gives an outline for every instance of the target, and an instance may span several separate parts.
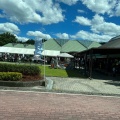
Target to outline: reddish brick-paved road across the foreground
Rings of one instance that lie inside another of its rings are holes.
[[[0,120],[120,120],[120,98],[0,91]]]

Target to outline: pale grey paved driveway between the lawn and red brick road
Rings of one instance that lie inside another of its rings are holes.
[[[79,79],[51,77],[53,90],[69,93],[86,93],[120,96],[120,80]]]

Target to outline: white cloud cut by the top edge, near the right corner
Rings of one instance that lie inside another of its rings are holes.
[[[90,10],[96,13],[113,15],[117,0],[81,0]]]

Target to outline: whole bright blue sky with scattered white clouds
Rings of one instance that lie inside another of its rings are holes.
[[[0,34],[19,41],[108,42],[120,35],[120,0],[0,0]]]

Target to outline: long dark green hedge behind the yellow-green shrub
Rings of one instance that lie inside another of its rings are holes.
[[[40,75],[40,68],[36,65],[0,63],[0,72],[19,72],[23,75]]]

